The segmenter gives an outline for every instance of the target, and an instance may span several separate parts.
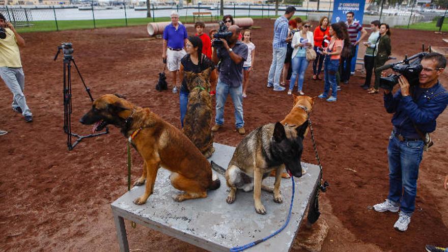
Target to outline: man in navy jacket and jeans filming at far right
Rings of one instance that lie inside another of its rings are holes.
[[[448,93],[438,77],[445,69],[446,59],[440,53],[426,54],[421,64],[418,85],[410,87],[401,75],[400,90],[393,96],[384,90],[384,107],[392,117],[393,131],[389,137],[389,194],[385,202],[376,204],[377,212],[398,212],[394,228],[405,231],[415,209],[418,166],[422,161],[425,142],[423,135],[433,132],[436,119],[448,104]],[[413,91],[410,91],[413,90]]]

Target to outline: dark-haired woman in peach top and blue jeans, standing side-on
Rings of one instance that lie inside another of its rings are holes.
[[[339,68],[339,61],[341,59],[342,48],[344,47],[344,40],[346,36],[343,32],[343,28],[339,23],[333,23],[330,26],[331,40],[328,47],[324,48],[322,52],[325,55],[324,63],[324,92],[318,96],[320,99],[325,99],[330,93],[331,96],[327,99],[328,102],[335,102],[337,100],[338,85],[336,83],[336,73]]]

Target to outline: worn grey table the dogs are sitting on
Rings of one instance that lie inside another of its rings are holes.
[[[216,143],[214,147],[216,151],[209,160],[227,168],[235,148]],[[295,178],[294,206],[289,225],[282,233],[246,251],[281,252],[290,249],[319,176],[319,166],[302,163],[302,167],[306,172],[301,178]],[[143,194],[144,185],[132,188],[111,204],[121,251],[129,251],[123,218],[210,251],[229,251],[234,246],[262,239],[286,221],[291,202],[291,179],[282,179],[282,204],[273,201],[272,193],[262,190],[262,203],[267,214],[261,215],[255,211],[252,191],[238,190],[235,202],[227,204],[228,188],[221,175],[218,175],[221,187],[208,191],[207,198],[175,202],[172,195],[180,191],[171,185],[169,175],[169,171],[159,169],[154,193],[146,204],[137,206],[132,203]],[[273,186],[273,183],[273,177],[264,180],[266,185]]]

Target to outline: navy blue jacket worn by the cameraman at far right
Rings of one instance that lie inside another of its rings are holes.
[[[419,95],[418,95],[419,93]],[[415,101],[412,97],[402,96],[401,90],[393,96],[384,94],[384,107],[387,113],[394,114],[392,125],[397,133],[407,138],[421,138],[414,125],[422,132],[433,132],[436,129],[436,119],[448,104],[448,93],[439,82],[429,89],[415,88]]]

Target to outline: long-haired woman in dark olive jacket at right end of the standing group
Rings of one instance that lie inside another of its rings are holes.
[[[374,52],[375,63],[374,67],[377,69],[386,63],[389,60],[390,51],[392,50],[392,46],[390,45],[390,30],[389,25],[387,23],[380,24],[380,38],[376,43],[376,48]],[[375,72],[375,70],[374,70]],[[378,88],[380,86],[380,77],[381,73],[375,72],[375,86],[368,90],[369,94],[377,94]]]

